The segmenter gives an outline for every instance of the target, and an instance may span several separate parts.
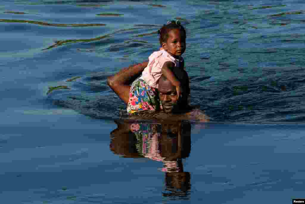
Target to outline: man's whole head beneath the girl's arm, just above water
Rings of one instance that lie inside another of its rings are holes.
[[[178,113],[186,110],[189,95],[188,75],[184,70],[174,70],[174,75],[178,78],[182,87],[182,94],[177,97],[176,87],[162,75],[159,79],[159,98],[166,113]]]

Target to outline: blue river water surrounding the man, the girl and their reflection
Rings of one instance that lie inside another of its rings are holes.
[[[287,203],[302,197],[302,1],[2,2],[0,200]],[[158,50],[155,32],[177,18],[187,29],[190,103],[213,122],[192,124],[192,148],[182,159],[190,175],[184,197],[166,196],[162,163],[109,150],[113,119],[126,106],[106,84],[107,76]]]

